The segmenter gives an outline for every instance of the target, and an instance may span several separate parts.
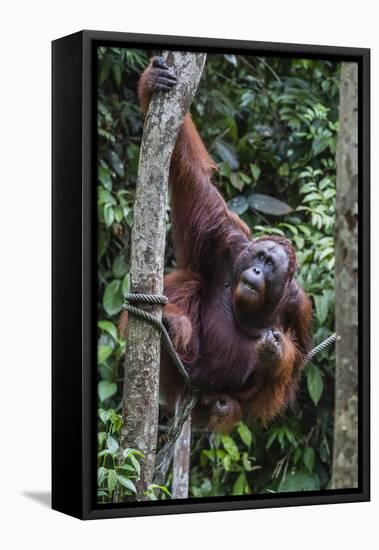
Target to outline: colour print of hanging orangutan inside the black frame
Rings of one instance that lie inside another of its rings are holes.
[[[357,64],[96,62],[97,504],[357,488]]]

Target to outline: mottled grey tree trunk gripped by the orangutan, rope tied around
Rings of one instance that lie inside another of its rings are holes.
[[[205,54],[164,52],[178,77],[169,92],[155,93],[146,116],[138,167],[131,238],[131,291],[162,294],[170,159],[197,90]],[[161,319],[161,306],[145,306]],[[152,482],[158,426],[160,337],[148,322],[129,315],[121,445],[141,451],[137,499]]]

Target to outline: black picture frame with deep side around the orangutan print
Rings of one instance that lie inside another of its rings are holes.
[[[99,45],[275,54],[359,66],[359,487],[96,504],[96,71]],[[370,499],[370,50],[82,31],[52,43],[52,507],[81,519]]]

